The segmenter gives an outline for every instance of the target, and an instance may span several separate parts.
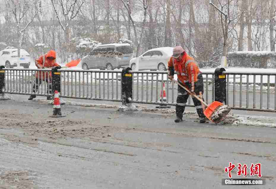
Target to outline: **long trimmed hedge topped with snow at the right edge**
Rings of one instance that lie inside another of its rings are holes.
[[[269,51],[237,51],[227,54],[229,66],[249,68],[268,68],[276,66],[276,52]]]

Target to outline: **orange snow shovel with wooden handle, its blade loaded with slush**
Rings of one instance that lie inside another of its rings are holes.
[[[223,105],[223,103],[214,101],[209,106],[198,96],[193,95],[191,91],[189,91],[187,88],[185,88],[183,85],[181,85],[178,81],[175,79],[172,79],[175,83],[177,83],[180,87],[185,89],[188,93],[190,93],[193,97],[195,97],[197,100],[199,100],[202,105],[206,106],[206,110],[204,111],[204,115],[212,122],[219,123],[220,121],[225,118],[225,116],[230,112],[231,108],[229,108],[226,105]]]

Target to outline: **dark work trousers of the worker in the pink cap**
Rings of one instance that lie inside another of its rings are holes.
[[[178,80],[178,82],[180,82]],[[181,82],[180,82],[181,84]],[[191,87],[191,83],[185,83],[185,86],[188,86],[188,89],[190,89]],[[202,74],[199,74],[197,76],[197,82],[195,82],[195,90],[194,92],[196,93],[196,95],[199,97],[199,92],[202,93],[204,92],[204,84],[203,84],[203,78],[202,78]],[[185,110],[185,106],[189,97],[189,93],[183,89],[182,87],[180,87],[178,85],[177,88],[177,99],[176,99],[176,106],[175,106],[175,112],[176,112],[176,116],[179,118],[183,117],[183,112]],[[196,112],[198,114],[199,117],[204,117],[204,113],[203,113],[203,109],[202,109],[202,105],[201,102],[199,100],[197,100],[195,97],[192,97],[193,99],[193,104],[195,105],[196,108]],[[202,99],[204,101],[204,99]]]

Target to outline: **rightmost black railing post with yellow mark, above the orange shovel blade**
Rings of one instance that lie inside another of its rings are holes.
[[[226,102],[226,71],[224,68],[215,69],[215,101],[227,104]]]

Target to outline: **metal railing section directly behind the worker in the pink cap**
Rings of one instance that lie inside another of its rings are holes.
[[[175,105],[177,99],[177,84],[167,77],[166,71],[129,71],[132,73],[132,100],[131,102],[145,104]],[[214,73],[204,72],[204,100],[214,101]],[[163,83],[165,84],[163,87]],[[166,92],[166,100],[162,92]],[[194,107],[191,97],[187,106]]]

